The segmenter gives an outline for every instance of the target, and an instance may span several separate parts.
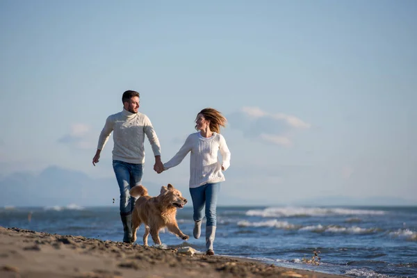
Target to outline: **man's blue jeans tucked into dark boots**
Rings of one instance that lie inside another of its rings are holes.
[[[131,197],[129,190],[133,186],[140,185],[143,174],[142,164],[113,161],[113,170],[120,189],[120,215],[129,215],[136,202],[136,198]]]

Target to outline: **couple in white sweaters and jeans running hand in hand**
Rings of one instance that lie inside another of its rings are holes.
[[[193,200],[194,237],[199,238],[202,220],[206,216],[206,254],[214,254],[216,207],[220,183],[224,181],[222,171],[230,165],[230,151],[226,140],[220,134],[220,126],[225,127],[226,118],[213,108],[204,108],[195,119],[196,133],[191,133],[177,154],[170,161],[162,163],[161,145],[154,127],[147,115],[139,113],[140,95],[127,90],[122,95],[123,110],[107,117],[102,129],[97,152],[92,164],[99,162],[101,149],[104,148],[113,131],[113,170],[120,188],[120,217],[123,223],[125,243],[131,242],[132,211],[135,198],[129,190],[142,181],[142,169],[145,162],[144,141],[147,136],[155,156],[154,170],[161,172],[175,167],[190,152],[190,195]],[[218,162],[218,152],[222,163]],[[205,208],[205,210],[204,210]]]

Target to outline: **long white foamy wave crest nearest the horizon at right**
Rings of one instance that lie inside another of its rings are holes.
[[[248,216],[271,217],[302,217],[302,216],[329,216],[329,215],[384,215],[385,211],[350,208],[306,208],[306,207],[270,207],[264,209],[251,209],[246,212]]]

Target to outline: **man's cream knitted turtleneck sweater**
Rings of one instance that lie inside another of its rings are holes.
[[[161,145],[147,115],[122,112],[107,117],[106,124],[100,133],[97,149],[103,149],[113,131],[113,160],[126,163],[145,163],[145,134],[152,146],[155,156],[161,155]]]

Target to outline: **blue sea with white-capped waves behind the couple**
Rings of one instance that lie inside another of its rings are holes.
[[[417,277],[417,206],[219,206],[217,213],[218,255],[349,277]],[[199,239],[192,206],[178,210],[177,221],[190,239],[163,231],[158,247],[205,252],[205,220]],[[0,226],[122,240],[117,204],[3,207]]]

